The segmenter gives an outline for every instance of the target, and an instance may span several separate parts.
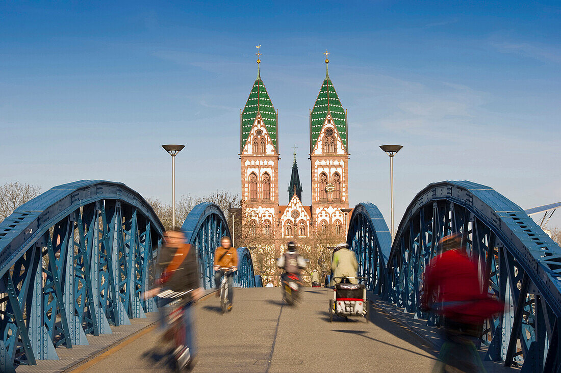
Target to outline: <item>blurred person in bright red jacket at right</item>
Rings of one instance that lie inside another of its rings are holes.
[[[435,256],[425,271],[421,310],[443,317],[444,344],[434,372],[452,370],[484,372],[474,342],[481,337],[482,322],[504,310],[504,303],[481,291],[477,263],[462,244],[462,234],[439,241],[442,254]]]

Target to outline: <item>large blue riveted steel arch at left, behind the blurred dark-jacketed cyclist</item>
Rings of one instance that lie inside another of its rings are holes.
[[[151,282],[162,223],[126,185],[54,187],[0,223],[0,371],[57,359],[155,310]]]

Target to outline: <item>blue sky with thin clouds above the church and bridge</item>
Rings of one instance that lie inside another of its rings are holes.
[[[555,2],[3,2],[0,183],[78,179],[144,196],[239,192],[239,110],[256,76],[310,204],[308,113],[329,72],[348,109],[351,205],[396,224],[431,182],[467,179],[522,208],[561,200],[561,6]],[[561,214],[553,225],[561,226]]]

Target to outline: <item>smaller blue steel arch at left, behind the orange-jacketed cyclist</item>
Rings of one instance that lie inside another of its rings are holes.
[[[197,250],[201,270],[201,285],[210,289],[214,285],[214,250],[220,246],[220,238],[230,237],[228,222],[219,206],[201,203],[187,215],[181,227],[187,243]]]

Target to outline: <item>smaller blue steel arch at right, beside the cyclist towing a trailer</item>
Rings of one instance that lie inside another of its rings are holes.
[[[349,222],[347,243],[357,256],[358,277],[366,277],[361,282],[370,291],[382,291],[391,242],[388,225],[380,210],[368,202],[356,205]]]

